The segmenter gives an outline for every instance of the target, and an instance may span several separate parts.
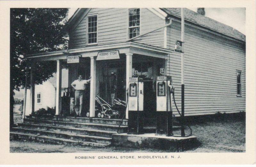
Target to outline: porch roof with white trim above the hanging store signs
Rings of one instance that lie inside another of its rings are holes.
[[[172,54],[172,49],[136,43],[122,42],[112,43],[97,46],[88,46],[85,48],[60,50],[55,52],[45,52],[32,55],[25,55],[26,58],[34,59],[35,61],[49,61],[67,59],[68,55],[81,55],[82,57],[97,56],[100,51],[119,50],[119,53],[133,53],[151,57],[165,58],[167,54]]]

